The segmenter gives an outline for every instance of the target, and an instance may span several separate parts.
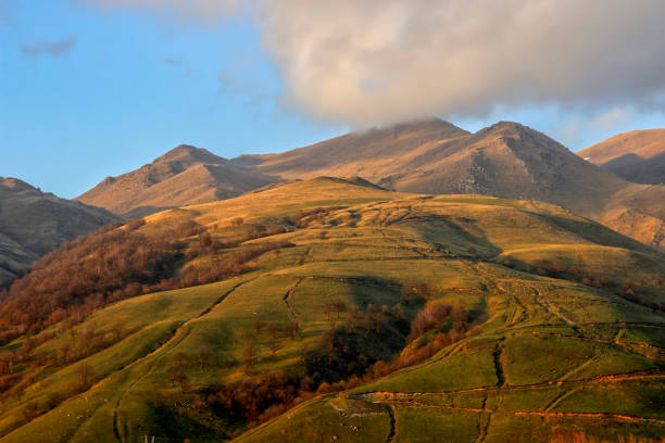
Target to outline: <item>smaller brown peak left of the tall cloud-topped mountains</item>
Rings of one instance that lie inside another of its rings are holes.
[[[239,195],[275,181],[255,170],[191,145],[179,145],[152,163],[108,177],[76,200],[134,218],[168,207]]]

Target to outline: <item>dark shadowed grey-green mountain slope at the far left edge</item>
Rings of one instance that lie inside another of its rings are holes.
[[[0,177],[0,284],[61,243],[116,220],[102,208]]]

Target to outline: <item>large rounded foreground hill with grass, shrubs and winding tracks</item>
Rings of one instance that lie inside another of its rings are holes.
[[[0,305],[0,443],[665,430],[665,255],[552,204],[317,177],[49,257]]]

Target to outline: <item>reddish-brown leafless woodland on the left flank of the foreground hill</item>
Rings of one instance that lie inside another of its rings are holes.
[[[224,244],[195,221],[159,236],[145,236],[138,230],[143,224],[142,219],[134,220],[125,229],[113,225],[65,243],[0,292],[0,343],[66,318],[80,321],[111,302],[228,278],[247,271],[244,264],[252,258],[291,245],[285,241]],[[281,231],[281,227],[249,225],[241,240]],[[213,265],[187,266],[179,271],[188,261],[226,249],[229,251]]]

